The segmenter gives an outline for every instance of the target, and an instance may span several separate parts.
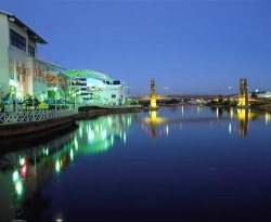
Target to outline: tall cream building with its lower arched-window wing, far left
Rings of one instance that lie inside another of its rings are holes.
[[[38,57],[38,44],[48,43],[42,37],[15,15],[3,11],[0,11],[0,32],[1,99],[43,101],[55,97],[56,89],[64,91],[67,86],[67,77],[61,75],[64,68]]]

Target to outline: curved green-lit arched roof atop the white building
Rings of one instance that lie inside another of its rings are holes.
[[[105,74],[101,74],[99,71],[90,70],[90,69],[68,69],[62,71],[64,75],[69,78],[82,77],[82,78],[93,78],[105,81],[113,81],[114,79]]]

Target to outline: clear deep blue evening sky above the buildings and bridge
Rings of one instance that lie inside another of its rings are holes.
[[[1,0],[48,41],[38,54],[104,73],[132,95],[271,91],[269,0]]]

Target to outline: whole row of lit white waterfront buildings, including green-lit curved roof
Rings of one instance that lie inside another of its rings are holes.
[[[66,70],[38,56],[38,44],[48,42],[15,15],[0,11],[1,104],[38,99],[77,104],[127,103],[126,86],[88,69]],[[56,102],[55,102],[56,103]]]

